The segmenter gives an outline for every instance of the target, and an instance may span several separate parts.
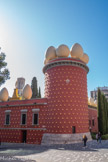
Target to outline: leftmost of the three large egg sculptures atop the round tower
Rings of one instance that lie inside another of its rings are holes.
[[[52,60],[54,58],[56,58],[56,49],[55,47],[53,46],[50,46],[47,50],[46,50],[46,53],[45,53],[45,58],[47,60]]]

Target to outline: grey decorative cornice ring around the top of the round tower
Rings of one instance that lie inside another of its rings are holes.
[[[43,73],[45,73],[48,69],[51,69],[52,67],[56,67],[56,66],[77,66],[77,67],[80,67],[86,70],[87,73],[89,72],[88,66],[86,66],[86,64],[84,64],[83,62],[68,59],[68,60],[57,60],[54,62],[49,62],[48,64],[44,66]]]

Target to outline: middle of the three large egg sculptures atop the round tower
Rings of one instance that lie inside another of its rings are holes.
[[[68,46],[62,44],[56,49],[56,55],[58,57],[68,57],[70,53],[70,50]]]

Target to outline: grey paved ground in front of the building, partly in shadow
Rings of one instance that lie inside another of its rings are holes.
[[[108,162],[108,140],[40,146],[0,146],[0,162]]]

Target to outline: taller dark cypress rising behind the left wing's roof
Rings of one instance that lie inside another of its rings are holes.
[[[36,77],[33,77],[33,79],[32,79],[31,89],[32,89],[32,98],[38,98],[38,88],[37,88]]]

